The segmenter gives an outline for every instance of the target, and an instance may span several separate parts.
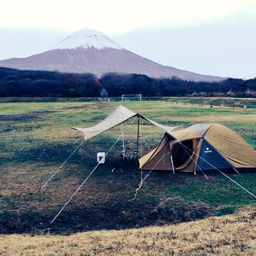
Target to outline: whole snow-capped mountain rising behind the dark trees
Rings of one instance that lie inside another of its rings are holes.
[[[189,81],[213,82],[225,79],[160,65],[127,51],[104,34],[92,29],[77,31],[46,52],[28,58],[2,60],[0,67],[20,70],[92,73],[98,77],[109,72],[115,72],[119,74],[145,74],[154,78],[175,76]]]

